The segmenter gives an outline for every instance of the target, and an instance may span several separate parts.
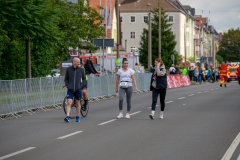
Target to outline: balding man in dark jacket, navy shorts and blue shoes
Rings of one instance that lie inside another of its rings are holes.
[[[80,65],[79,58],[73,58],[72,66],[68,67],[65,74],[65,87],[68,88],[67,92],[67,117],[64,119],[65,122],[70,122],[69,114],[71,110],[71,104],[73,102],[73,97],[75,96],[75,102],[77,106],[77,115],[76,115],[76,122],[80,122],[80,99],[82,97],[82,88],[85,86],[86,83],[86,76],[84,69],[78,67]]]

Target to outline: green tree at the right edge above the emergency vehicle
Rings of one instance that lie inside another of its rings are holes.
[[[229,29],[223,34],[217,55],[224,61],[240,61],[240,28]]]

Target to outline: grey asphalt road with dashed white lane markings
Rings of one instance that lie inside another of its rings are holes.
[[[164,119],[159,99],[154,120],[150,106],[151,92],[133,95],[130,119],[116,118],[113,98],[90,103],[80,123],[64,122],[62,109],[0,121],[0,159],[240,159],[237,83],[168,89]]]

